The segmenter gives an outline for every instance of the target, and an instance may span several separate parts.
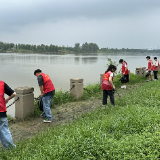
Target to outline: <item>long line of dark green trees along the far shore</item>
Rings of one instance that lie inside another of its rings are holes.
[[[14,44],[0,41],[0,52],[49,52],[49,53],[120,53],[120,52],[152,52],[159,53],[160,49],[129,49],[129,48],[99,48],[96,43],[75,43],[74,47],[57,46],[57,45],[31,45],[31,44]]]

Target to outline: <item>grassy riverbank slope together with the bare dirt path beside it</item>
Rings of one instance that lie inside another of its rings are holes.
[[[157,100],[160,95],[156,88],[160,82],[144,83],[144,79],[138,79],[132,76],[126,90],[120,89],[119,83],[116,85],[121,98],[115,95],[115,108],[110,105],[102,108],[102,92],[99,92],[85,101],[56,106],[52,109],[51,124],[44,124],[42,118],[33,117],[10,124],[13,139],[19,143],[16,150],[3,152],[1,156],[17,160],[26,157],[156,159],[160,149],[160,102]],[[31,138],[35,134],[37,136]],[[23,141],[26,138],[31,139]]]

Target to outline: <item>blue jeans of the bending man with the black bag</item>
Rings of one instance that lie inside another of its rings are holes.
[[[52,115],[51,115],[51,103],[52,103],[52,98],[54,95],[51,96],[45,96],[42,97],[42,101],[43,101],[43,116],[46,118],[49,118],[50,121],[52,121]]]

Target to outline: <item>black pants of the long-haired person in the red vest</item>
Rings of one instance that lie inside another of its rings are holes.
[[[114,105],[114,94],[112,90],[103,90],[103,105],[107,105],[108,95],[111,100],[111,104]]]

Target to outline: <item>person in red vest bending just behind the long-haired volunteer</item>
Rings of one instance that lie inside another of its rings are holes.
[[[128,65],[127,62],[125,62],[123,59],[119,60],[119,63],[122,64],[122,68],[120,69],[120,71],[122,71],[122,76],[125,78],[125,82],[123,86],[121,86],[121,88],[126,89],[126,84],[129,82],[129,70],[128,70]],[[119,71],[119,72],[120,72]]]

